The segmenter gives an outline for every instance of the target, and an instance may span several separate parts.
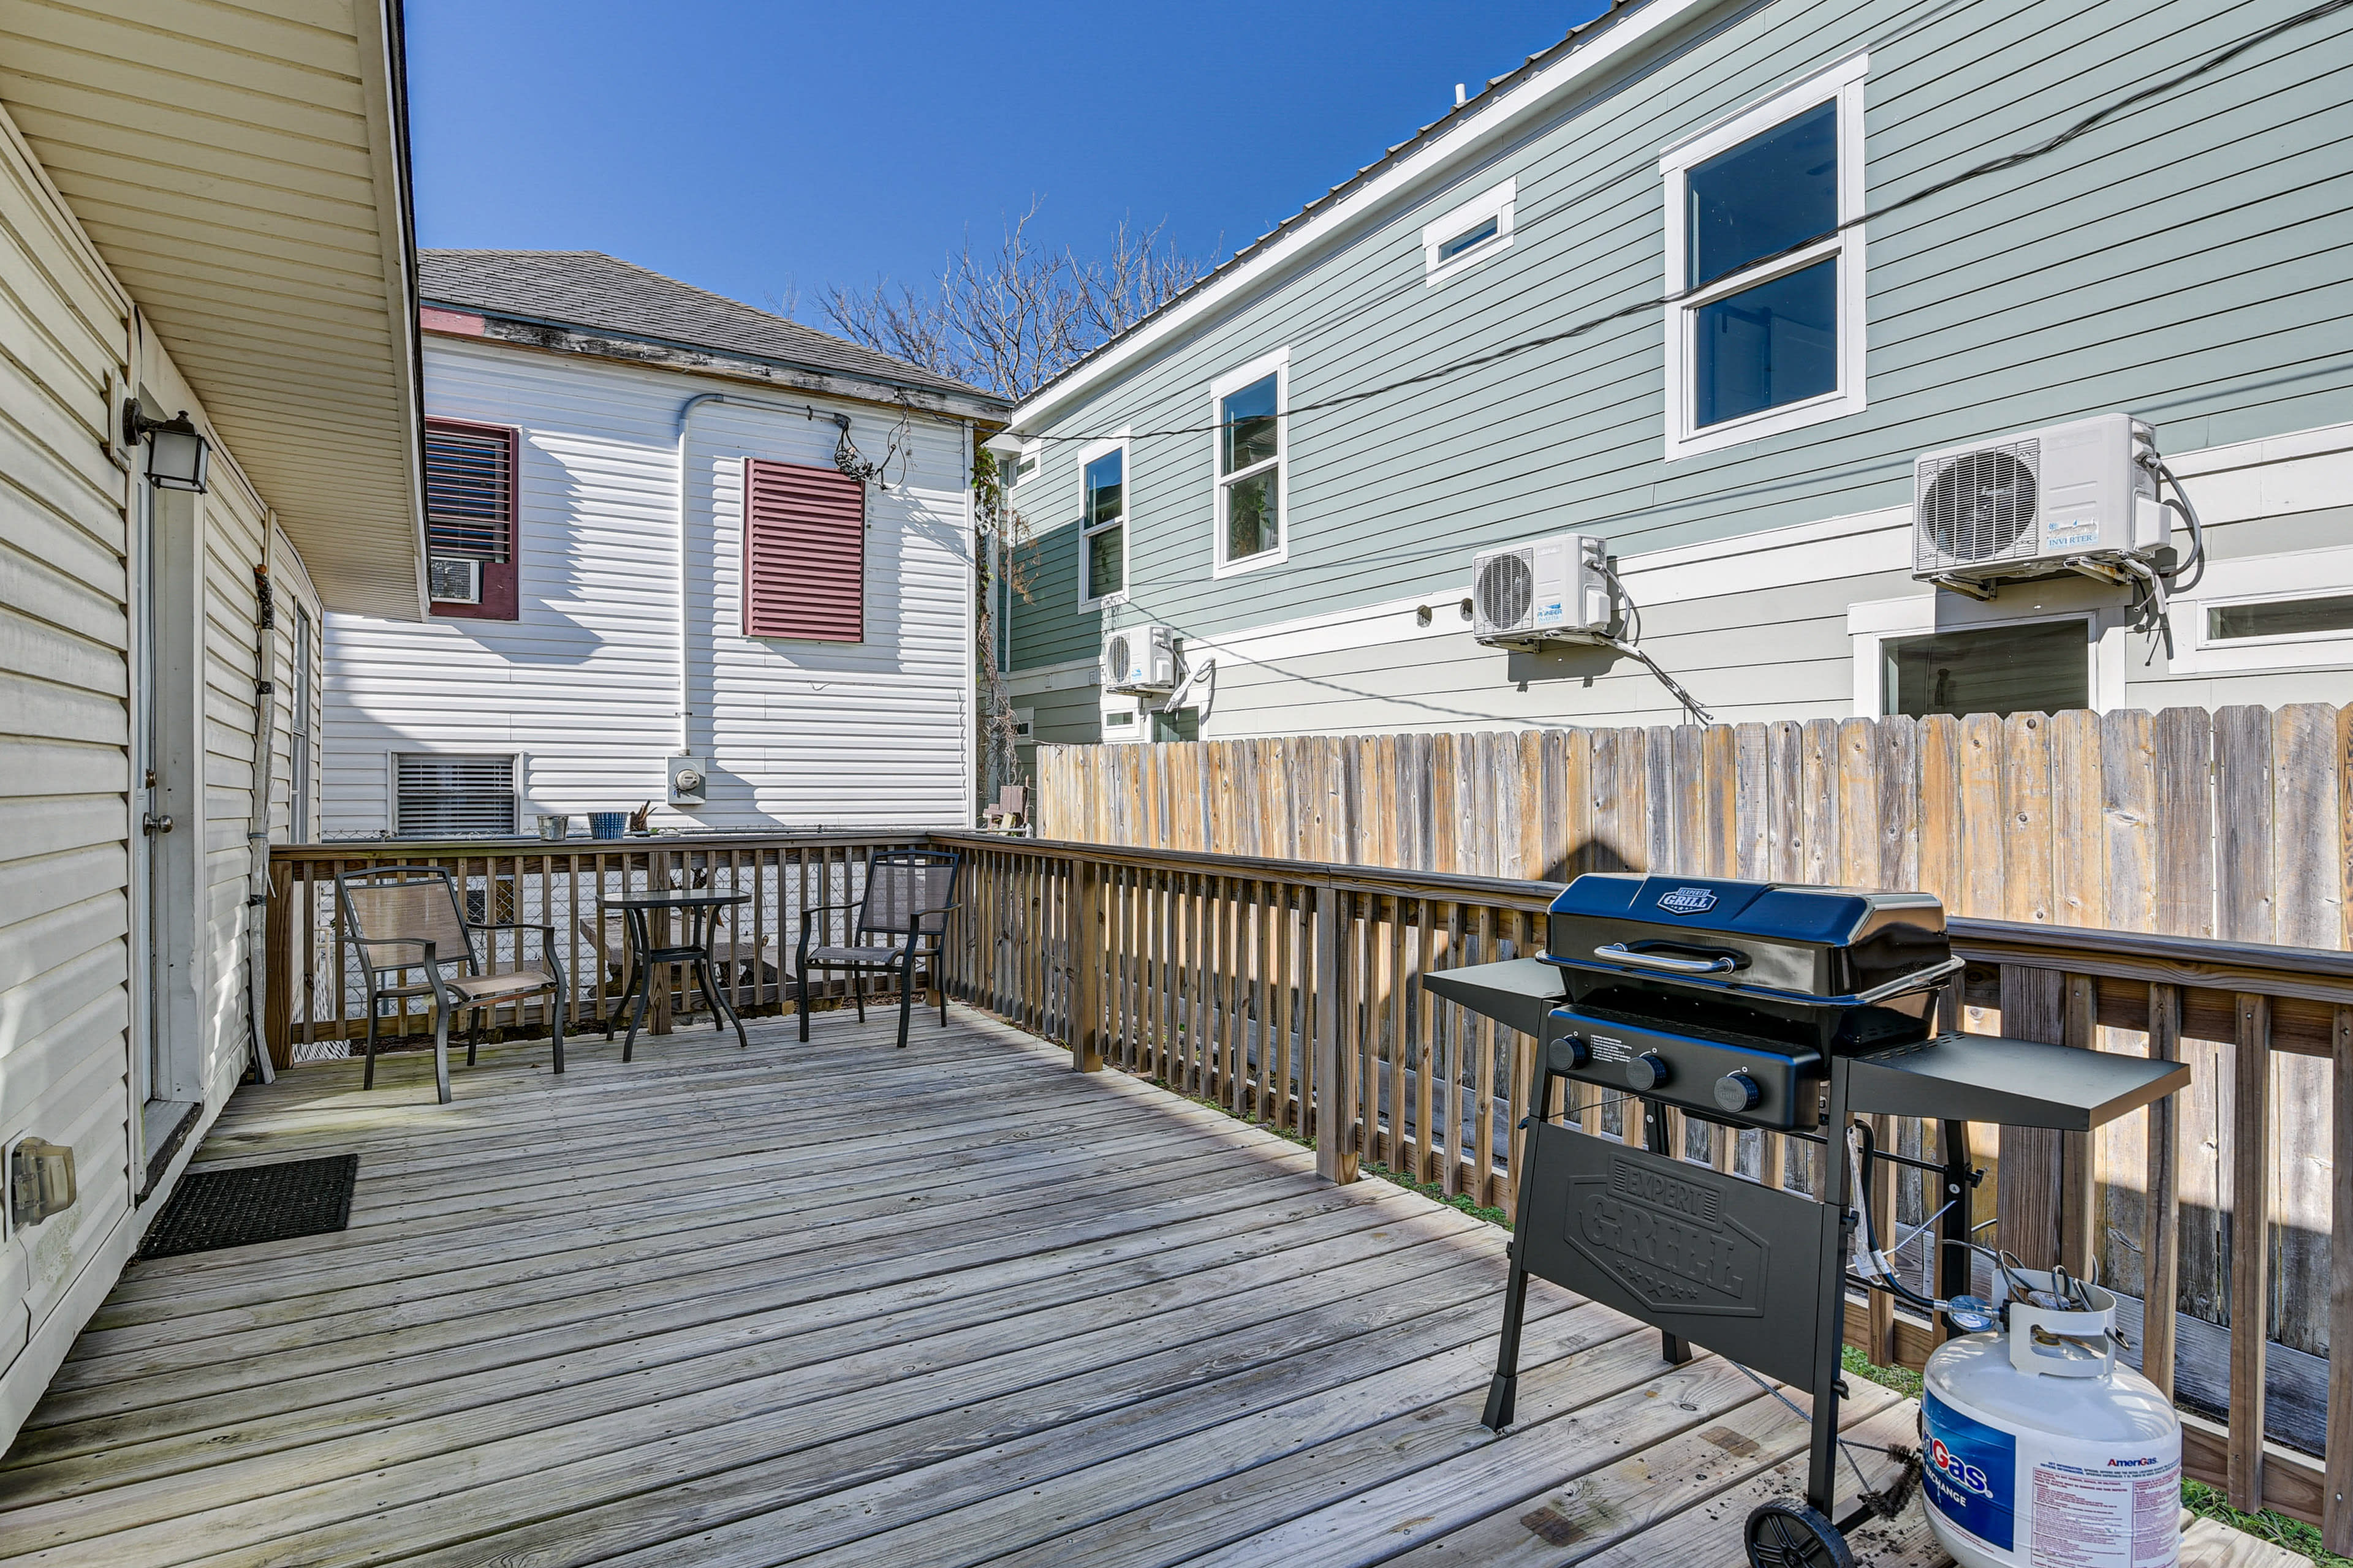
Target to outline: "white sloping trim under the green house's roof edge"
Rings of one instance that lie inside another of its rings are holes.
[[[1365,226],[1367,219],[1381,214],[1391,202],[1395,202],[1395,197],[1419,186],[1433,172],[1457,167],[1475,155],[1478,148],[1520,134],[1522,127],[1548,113],[1560,96],[1584,87],[1642,42],[1675,26],[1682,16],[1718,2],[1720,0],[1649,0],[1647,5],[1628,9],[1598,38],[1579,49],[1569,49],[1565,56],[1520,82],[1515,89],[1497,99],[1485,113],[1466,118],[1452,132],[1438,136],[1412,158],[1405,158],[1393,169],[1367,181],[1358,190],[1351,190],[1327,212],[1318,212],[1315,216],[1297,223],[1282,240],[1275,240],[1264,252],[1226,273],[1226,277],[1205,287],[1191,301],[1165,310],[1104,357],[1082,367],[1068,381],[1047,388],[1035,402],[1024,402],[1012,411],[1009,421],[1016,428],[1040,428],[1042,423],[1049,423],[1056,409],[1089,395],[1106,378],[1115,378],[1136,360],[1158,353],[1167,341],[1198,331],[1207,317],[1224,313],[1238,296],[1254,292],[1268,273],[1292,266],[1311,247],[1325,244],[1337,235]]]

